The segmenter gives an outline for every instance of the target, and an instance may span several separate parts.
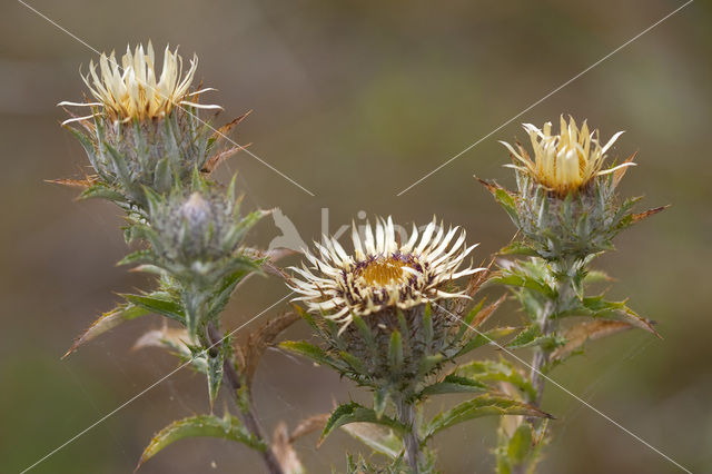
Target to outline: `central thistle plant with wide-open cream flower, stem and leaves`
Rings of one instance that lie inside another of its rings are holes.
[[[377,221],[375,234],[367,225],[363,238],[354,226],[352,239],[352,254],[333,237],[315,243],[318,257],[305,251],[309,265],[293,267],[296,275],[289,282],[301,295],[296,300],[307,310],[299,312],[318,345],[287,342],[281,347],[337,371],[374,395],[370,407],[339,405],[326,422],[323,440],[352,423],[380,425],[385,431],[357,437],[372,447],[400,446],[379,448],[392,457],[383,468],[434,472],[427,443],[443,429],[485,415],[547,416],[493,391],[473,364],[456,365],[465,354],[512,330],[476,329],[501,302],[467,312],[486,268],[462,268],[475,248],[466,246],[464,230],[445,230],[434,220],[422,236],[414,226],[407,243],[398,244],[388,218]],[[461,289],[456,280],[467,276],[469,284]],[[472,398],[424,421],[423,404],[445,393],[467,393]],[[358,463],[349,458],[349,468]]]

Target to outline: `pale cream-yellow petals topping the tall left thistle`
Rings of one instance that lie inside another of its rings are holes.
[[[151,42],[146,50],[142,45],[131,51],[127,47],[121,57],[121,65],[112,51],[109,56],[99,57],[97,65],[89,62],[89,73],[82,79],[89,91],[97,99],[96,102],[76,103],[60,102],[60,106],[91,106],[100,107],[102,113],[111,119],[128,121],[131,119],[152,119],[166,117],[174,107],[197,107],[219,109],[219,106],[206,106],[191,101],[196,96],[211,89],[190,92],[198,57],[194,55],[187,71],[182,70],[182,58],[178,49],[171,51],[167,46],[164,51],[164,65],[160,75],[155,66],[156,56]],[[81,120],[79,117],[68,121]]]

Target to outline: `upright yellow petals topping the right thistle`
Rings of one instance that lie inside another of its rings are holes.
[[[517,144],[518,150],[515,150],[510,144],[501,141],[517,161],[508,166],[528,174],[540,185],[558,195],[578,190],[596,176],[633,165],[626,161],[616,167],[603,169],[605,152],[623,134],[622,131],[601,146],[599,130],[589,131],[585,120],[578,129],[573,118],[570,118],[566,124],[564,116],[561,116],[558,135],[552,135],[551,122],[544,124],[541,129],[532,124],[524,124],[524,129],[530,135],[534,159],[530,158],[528,152],[520,144]]]

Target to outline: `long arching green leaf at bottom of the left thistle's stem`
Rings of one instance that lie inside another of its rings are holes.
[[[263,442],[248,433],[235,416],[226,415],[218,418],[215,415],[198,415],[172,422],[158,432],[144,451],[138,466],[170,444],[189,437],[218,437],[246,444],[253,450],[267,448]]]

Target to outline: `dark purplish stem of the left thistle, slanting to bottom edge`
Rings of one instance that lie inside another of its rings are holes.
[[[224,336],[215,327],[212,323],[208,323],[208,339],[214,347],[217,347],[221,342]],[[267,450],[261,452],[263,460],[265,461],[265,465],[267,466],[267,471],[269,474],[284,474],[275,453],[269,446],[267,438],[265,437],[264,429],[255,415],[255,407],[253,406],[253,397],[248,396],[247,404],[240,398],[239,391],[243,388],[243,383],[240,382],[240,376],[235,369],[235,364],[231,358],[226,358],[222,364],[222,378],[225,384],[228,385],[231,389],[230,393],[235,399],[235,403],[238,406],[238,412],[243,424],[253,434],[257,440],[267,444]],[[249,391],[249,387],[247,387]]]

